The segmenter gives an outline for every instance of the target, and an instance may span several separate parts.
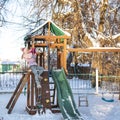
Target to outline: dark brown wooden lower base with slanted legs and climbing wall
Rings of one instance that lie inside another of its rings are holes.
[[[24,73],[20,82],[18,83],[13,95],[11,96],[6,108],[8,109],[8,114],[10,114],[22,93],[24,86],[27,84],[27,104],[26,104],[26,111],[30,115],[36,114],[38,108],[38,103],[42,106],[43,112],[46,109],[50,109],[52,112],[60,112],[60,110],[55,109],[58,106],[53,105],[51,103],[51,96],[50,96],[50,86],[49,86],[49,79],[48,79],[48,71],[44,71],[41,75],[43,79],[41,80],[41,88],[36,87],[36,83],[34,80],[34,74],[31,71]],[[53,84],[53,83],[52,83]],[[55,92],[55,87],[53,93]],[[55,93],[54,93],[55,94]],[[53,94],[53,98],[54,98]],[[53,102],[54,103],[54,102]],[[55,107],[56,106],[56,107]],[[52,110],[52,108],[54,108]]]

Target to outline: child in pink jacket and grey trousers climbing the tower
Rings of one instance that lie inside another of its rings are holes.
[[[30,49],[22,48],[21,50],[23,52],[22,59],[24,58],[26,60],[28,67],[34,73],[37,88],[41,88],[40,80],[42,79],[42,77],[40,75],[43,73],[44,69],[43,69],[43,67],[38,66],[36,63],[35,48],[32,48],[32,47],[30,47]]]

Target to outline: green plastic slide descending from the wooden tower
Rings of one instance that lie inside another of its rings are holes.
[[[63,69],[52,70],[51,73],[52,78],[57,87],[58,104],[64,119],[83,120],[76,107],[72,90],[67,81],[64,70]]]

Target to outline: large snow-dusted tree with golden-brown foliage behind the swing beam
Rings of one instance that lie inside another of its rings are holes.
[[[69,44],[74,47],[120,47],[119,0],[34,0],[33,5],[36,19],[42,19],[43,14],[52,16],[56,24],[71,33]],[[75,61],[78,55],[75,53]],[[92,67],[102,72],[103,61],[105,55],[94,54]]]

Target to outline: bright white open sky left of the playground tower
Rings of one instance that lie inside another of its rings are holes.
[[[20,48],[24,47],[26,29],[22,26],[23,8],[14,0],[7,5],[6,21],[9,23],[0,27],[0,59],[18,60],[21,58]]]

